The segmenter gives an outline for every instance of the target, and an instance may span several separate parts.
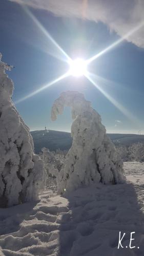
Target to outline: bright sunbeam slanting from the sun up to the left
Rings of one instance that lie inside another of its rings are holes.
[[[39,20],[33,15],[33,13],[28,9],[28,7],[25,5],[24,2],[22,2],[21,6],[24,9],[24,11],[28,14],[28,16],[33,20],[34,24],[38,27],[38,29],[47,37],[47,39],[50,42],[52,42],[53,46],[55,46],[56,49],[62,54],[60,59],[66,62],[70,61],[71,58],[68,56],[68,54],[57,44],[57,42],[52,38],[49,32],[44,28],[44,26],[39,22]],[[55,54],[55,50],[53,51],[52,55],[59,59],[59,56]]]

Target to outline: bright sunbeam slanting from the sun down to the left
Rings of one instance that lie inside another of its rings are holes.
[[[59,82],[60,80],[62,80],[62,79],[64,79],[64,78],[68,77],[69,75],[70,75],[69,72],[65,73],[64,75],[62,75],[62,76],[56,78],[55,80],[53,80],[53,81],[47,83],[45,86],[40,87],[39,89],[37,89],[37,90],[35,90],[34,92],[28,94],[27,96],[25,96],[25,97],[23,97],[23,98],[21,98],[21,99],[16,100],[16,101],[14,102],[14,104],[16,105],[16,104],[18,104],[18,103],[20,103],[20,102],[22,102],[22,101],[24,101],[24,100],[26,100],[26,99],[31,98],[32,96],[36,95],[36,94],[39,93],[39,92],[42,92],[43,90],[45,90],[45,89],[47,89],[48,87],[52,86],[54,83]]]

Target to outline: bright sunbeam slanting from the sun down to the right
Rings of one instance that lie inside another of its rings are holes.
[[[122,106],[117,100],[115,100],[111,95],[109,95],[104,89],[102,89],[100,86],[98,86],[97,81],[96,81],[96,76],[94,74],[87,73],[85,76],[129,120],[131,120],[134,123],[137,122],[137,124],[140,123],[140,121],[130,111],[128,111],[124,106]]]

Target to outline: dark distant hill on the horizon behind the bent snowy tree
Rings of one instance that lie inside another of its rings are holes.
[[[34,141],[35,153],[39,153],[42,147],[49,148],[50,151],[69,150],[72,145],[72,138],[70,133],[58,132],[49,130],[33,131],[31,132]],[[144,135],[136,134],[108,134],[110,139],[115,145],[126,145],[130,146],[137,142],[144,143]]]

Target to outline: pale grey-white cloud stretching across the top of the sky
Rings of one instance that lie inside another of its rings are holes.
[[[78,17],[106,24],[110,31],[125,36],[144,22],[143,0],[9,0],[43,9],[61,17]],[[144,48],[144,27],[131,34],[128,41]]]

